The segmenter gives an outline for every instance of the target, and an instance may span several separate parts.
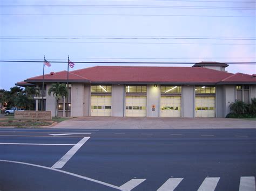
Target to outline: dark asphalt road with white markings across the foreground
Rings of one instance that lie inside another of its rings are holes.
[[[255,190],[255,150],[255,129],[0,129],[0,190]]]

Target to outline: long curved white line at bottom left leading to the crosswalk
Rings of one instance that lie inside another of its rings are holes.
[[[71,172],[67,172],[67,171],[62,171],[60,169],[50,168],[48,166],[35,165],[35,164],[26,163],[26,162],[18,162],[18,161],[12,161],[12,160],[0,160],[0,162],[11,162],[11,163],[16,163],[16,164],[22,164],[22,165],[35,166],[35,167],[39,167],[39,168],[45,168],[45,169],[49,169],[51,171],[56,171],[56,172],[68,174],[68,175],[75,176],[75,177],[80,178],[80,179],[89,180],[89,181],[92,181],[92,182],[99,183],[100,185],[104,185],[104,186],[108,186],[108,187],[120,190],[120,188],[118,186],[111,185],[110,183],[106,183],[106,182],[102,182],[102,181],[99,181],[99,180],[91,179],[89,177],[82,176],[82,175],[79,175],[79,174],[75,174],[75,173],[71,173]]]

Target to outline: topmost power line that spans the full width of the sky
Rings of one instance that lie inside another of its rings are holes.
[[[255,10],[253,7],[237,6],[159,6],[159,5],[0,5],[2,8],[146,8],[146,9],[220,9]]]

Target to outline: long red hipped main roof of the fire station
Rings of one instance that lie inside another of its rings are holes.
[[[67,72],[46,74],[45,81],[65,82]],[[26,82],[42,81],[43,76],[31,77]],[[69,73],[70,82],[106,82],[106,83],[218,83],[252,82],[251,75],[232,74],[201,67],[134,67],[134,66],[95,66],[73,70]]]

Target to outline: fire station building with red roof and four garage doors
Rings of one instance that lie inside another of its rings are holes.
[[[228,73],[228,65],[199,62],[192,67],[95,66],[69,72],[69,96],[58,103],[59,116],[225,117],[235,100],[256,97],[256,75]],[[66,83],[67,71],[18,82],[37,86],[36,110],[52,111],[52,83]],[[42,95],[44,101],[42,102]]]

